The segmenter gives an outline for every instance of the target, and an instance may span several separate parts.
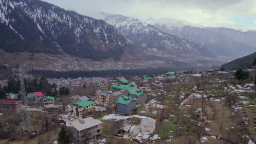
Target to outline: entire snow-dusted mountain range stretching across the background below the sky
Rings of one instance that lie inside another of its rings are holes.
[[[65,53],[93,61],[113,58],[127,63],[158,60],[167,65],[207,66],[256,50],[256,32],[176,19],[141,21],[102,15],[102,20],[94,19],[40,0],[0,0],[0,49]]]

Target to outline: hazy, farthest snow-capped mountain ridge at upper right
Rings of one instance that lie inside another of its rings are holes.
[[[256,51],[255,32],[240,32],[230,28],[202,27],[177,19],[152,19],[147,23],[163,32],[176,35],[211,49],[216,55],[241,57]]]

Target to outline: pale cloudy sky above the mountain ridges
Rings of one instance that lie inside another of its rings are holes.
[[[44,0],[79,14],[121,14],[146,20],[167,17],[202,26],[256,29],[256,0]]]

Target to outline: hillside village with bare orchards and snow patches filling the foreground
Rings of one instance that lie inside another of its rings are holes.
[[[247,70],[250,77],[254,69]],[[57,143],[65,125],[73,143],[254,143],[253,79],[208,70],[131,77],[46,79],[59,92],[27,93],[32,131],[20,130],[21,99],[0,99],[1,143]],[[8,79],[0,81],[8,86]],[[22,134],[19,136],[13,135]],[[44,138],[43,138],[44,137]]]

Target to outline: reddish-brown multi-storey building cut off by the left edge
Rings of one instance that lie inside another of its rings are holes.
[[[0,112],[18,113],[21,109],[21,99],[0,99]]]

